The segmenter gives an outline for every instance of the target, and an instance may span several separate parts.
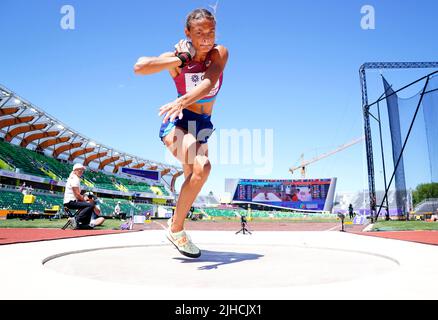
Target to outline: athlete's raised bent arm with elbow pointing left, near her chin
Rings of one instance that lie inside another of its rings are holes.
[[[134,66],[137,75],[149,75],[169,70],[173,77],[178,75],[177,69],[181,65],[181,60],[172,52],[163,53],[159,57],[141,57]]]

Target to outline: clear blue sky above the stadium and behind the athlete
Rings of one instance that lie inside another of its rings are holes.
[[[176,90],[166,72],[138,77],[133,65],[172,50],[186,15],[215,3],[2,0],[0,83],[99,143],[165,161],[157,114]],[[60,27],[66,4],[75,8],[75,30]],[[375,8],[375,30],[361,28],[364,5]],[[312,158],[359,137],[360,65],[436,60],[436,12],[438,3],[425,0],[220,0],[218,43],[230,60],[213,122],[218,130],[273,130],[274,162],[268,175],[256,175],[255,163],[218,163],[203,193],[222,193],[225,178],[291,178],[302,153]],[[416,73],[385,75],[397,87]],[[369,78],[381,90],[378,73]],[[362,190],[363,152],[356,145],[322,160],[308,177],[336,176],[338,190]]]

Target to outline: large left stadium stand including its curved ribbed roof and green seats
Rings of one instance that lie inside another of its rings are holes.
[[[182,169],[127,154],[81,135],[12,90],[0,85],[0,208],[63,210],[63,192],[74,163],[87,167],[82,189],[102,200],[111,216],[120,201],[127,215],[175,205],[175,184]],[[124,168],[145,170],[132,174]],[[144,173],[149,177],[143,178]],[[20,187],[36,196],[23,204]],[[200,203],[206,203],[200,199]]]

